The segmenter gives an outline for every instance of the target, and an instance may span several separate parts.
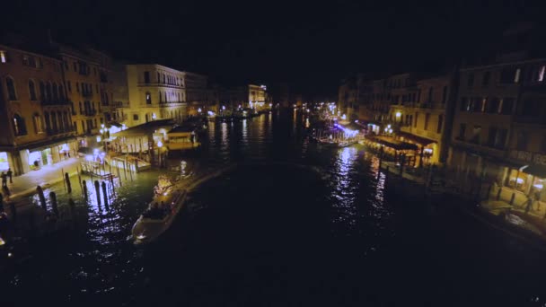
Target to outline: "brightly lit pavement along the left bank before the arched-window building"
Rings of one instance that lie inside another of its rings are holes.
[[[64,172],[68,172],[70,176],[75,175],[79,163],[79,158],[69,158],[53,165],[43,166],[40,170],[29,171],[21,176],[13,177],[13,183],[10,183],[8,179],[7,186],[12,193],[10,198],[13,199],[31,194],[36,191],[36,187],[38,186],[45,188],[60,182],[64,179]]]

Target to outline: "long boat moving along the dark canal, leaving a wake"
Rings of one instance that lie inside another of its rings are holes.
[[[144,214],[140,215],[133,225],[133,239],[135,244],[154,241],[172,224],[172,221],[181,211],[186,199],[187,191],[177,190],[174,187],[166,189],[162,194],[154,197]]]

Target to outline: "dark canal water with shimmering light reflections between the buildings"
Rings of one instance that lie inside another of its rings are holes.
[[[57,191],[63,225],[51,223],[53,231],[13,250],[13,266],[1,272],[0,300],[10,306],[546,305],[544,252],[449,206],[385,189],[364,147],[321,148],[305,137],[304,122],[292,110],[211,122],[202,148],[172,155],[161,173],[191,180],[236,167],[193,189],[172,228],[149,245],[135,246],[128,236],[160,172],[122,180],[108,208],[92,189],[85,201],[76,186],[71,209],[64,186],[51,187],[46,194]],[[36,197],[29,201],[39,210]]]

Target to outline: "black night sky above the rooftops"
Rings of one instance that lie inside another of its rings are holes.
[[[348,74],[435,69],[510,22],[546,20],[525,1],[12,1],[2,11],[6,31],[51,29],[129,62],[330,95]]]

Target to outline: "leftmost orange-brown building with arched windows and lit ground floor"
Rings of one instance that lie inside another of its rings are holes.
[[[63,73],[55,57],[0,45],[0,170],[20,175],[76,153]]]

